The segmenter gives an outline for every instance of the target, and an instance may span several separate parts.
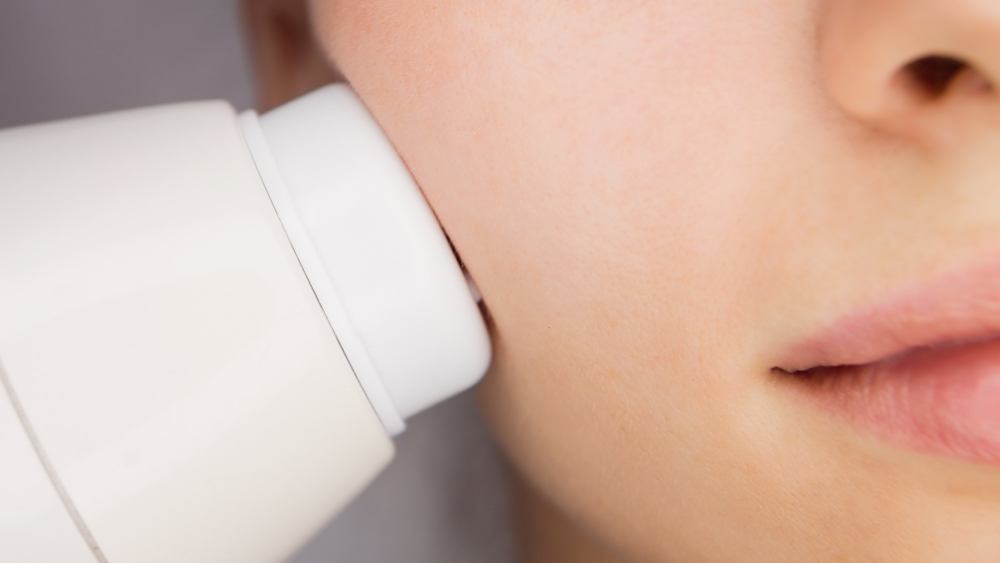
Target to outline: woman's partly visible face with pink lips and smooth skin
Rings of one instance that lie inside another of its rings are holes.
[[[484,295],[490,425],[576,524],[638,560],[1000,560],[993,0],[312,15]]]

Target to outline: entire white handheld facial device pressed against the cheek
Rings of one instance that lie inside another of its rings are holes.
[[[489,337],[346,86],[0,131],[0,561],[271,563]]]

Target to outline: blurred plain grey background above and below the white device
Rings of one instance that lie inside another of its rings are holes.
[[[250,107],[240,33],[233,0],[0,0],[0,127],[200,98]],[[514,560],[502,464],[469,394],[415,417],[397,446],[295,563]]]

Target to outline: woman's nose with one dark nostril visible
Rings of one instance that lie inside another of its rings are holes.
[[[925,142],[1000,131],[1000,0],[831,0],[827,91],[866,124]]]

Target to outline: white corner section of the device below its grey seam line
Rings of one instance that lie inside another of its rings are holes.
[[[14,404],[0,366],[0,561],[94,563],[45,473]]]

